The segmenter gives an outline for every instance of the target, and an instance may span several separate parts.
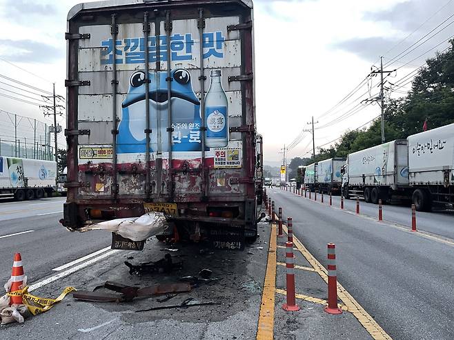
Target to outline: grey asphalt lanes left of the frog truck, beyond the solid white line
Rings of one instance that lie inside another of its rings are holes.
[[[110,246],[110,234],[69,232],[59,223],[61,197],[0,203],[0,286],[10,278],[15,252],[32,283],[58,271],[52,270]]]

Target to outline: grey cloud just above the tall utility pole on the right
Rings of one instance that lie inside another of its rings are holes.
[[[399,39],[384,37],[354,38],[336,43],[333,47],[356,54],[366,61],[374,62],[384,51],[388,50],[389,46],[394,46],[398,41]]]

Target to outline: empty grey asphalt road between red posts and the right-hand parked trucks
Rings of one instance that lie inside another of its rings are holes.
[[[393,339],[454,339],[454,217],[418,212],[421,230],[410,232],[409,209],[384,206],[380,223],[280,189],[267,189],[293,232],[326,266],[326,243],[336,244],[337,278]],[[318,197],[319,199],[319,197]],[[338,198],[333,201],[338,203]],[[353,210],[354,201],[346,201]],[[377,207],[362,202],[362,213]],[[440,235],[441,237],[438,237]]]

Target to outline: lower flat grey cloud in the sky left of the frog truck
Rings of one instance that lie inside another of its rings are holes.
[[[51,63],[63,57],[63,52],[55,46],[28,39],[0,39],[0,48],[1,57],[12,62]]]

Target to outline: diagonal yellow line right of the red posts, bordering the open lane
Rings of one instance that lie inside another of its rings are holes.
[[[286,226],[283,227],[284,231],[287,232]],[[319,263],[315,257],[313,257],[310,252],[304,247],[303,243],[295,237],[293,234],[293,243],[299,249],[299,251],[306,257],[306,260],[310,263],[311,266],[315,269],[316,272],[319,273],[320,277],[324,279],[326,283],[328,283],[328,272],[322,266],[322,263]],[[350,293],[339,283],[337,282],[337,296],[345,306],[348,308],[348,311],[351,312],[359,323],[362,324],[364,328],[366,328],[367,332],[371,334],[373,339],[375,340],[392,340],[391,337],[379,326],[379,324],[371,317],[371,315],[362,308],[362,306],[351,296]]]

